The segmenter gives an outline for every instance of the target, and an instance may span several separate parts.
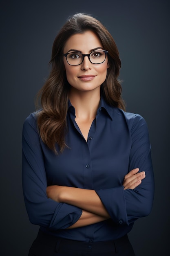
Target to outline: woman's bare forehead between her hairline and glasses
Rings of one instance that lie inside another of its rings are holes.
[[[68,52],[70,49],[89,52],[97,47],[103,47],[98,36],[93,31],[86,31],[83,34],[75,34],[68,38],[64,46],[64,52]]]

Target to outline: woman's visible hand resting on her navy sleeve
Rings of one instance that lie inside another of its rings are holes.
[[[144,171],[139,173],[139,168],[133,169],[124,177],[124,182],[123,182],[124,189],[135,189],[137,186],[139,186],[139,184],[141,184],[141,181],[144,178],[145,178]]]

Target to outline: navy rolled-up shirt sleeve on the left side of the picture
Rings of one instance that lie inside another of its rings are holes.
[[[46,195],[46,170],[35,115],[31,114],[22,132],[22,187],[31,223],[51,230],[66,229],[81,216],[78,207],[58,203]]]

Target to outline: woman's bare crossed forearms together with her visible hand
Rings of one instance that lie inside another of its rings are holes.
[[[124,189],[135,189],[144,178],[145,172],[139,173],[139,168],[133,169],[124,177]],[[46,193],[48,198],[56,202],[72,204],[82,209],[81,217],[69,229],[91,225],[110,218],[95,190],[53,185],[47,187]]]

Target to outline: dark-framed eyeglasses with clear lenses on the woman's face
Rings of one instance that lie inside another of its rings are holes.
[[[71,66],[77,66],[82,64],[84,61],[84,57],[87,56],[89,61],[93,64],[101,64],[106,59],[106,54],[108,51],[93,51],[89,54],[82,54],[80,52],[68,52],[65,53],[64,56],[66,57],[67,63]]]

